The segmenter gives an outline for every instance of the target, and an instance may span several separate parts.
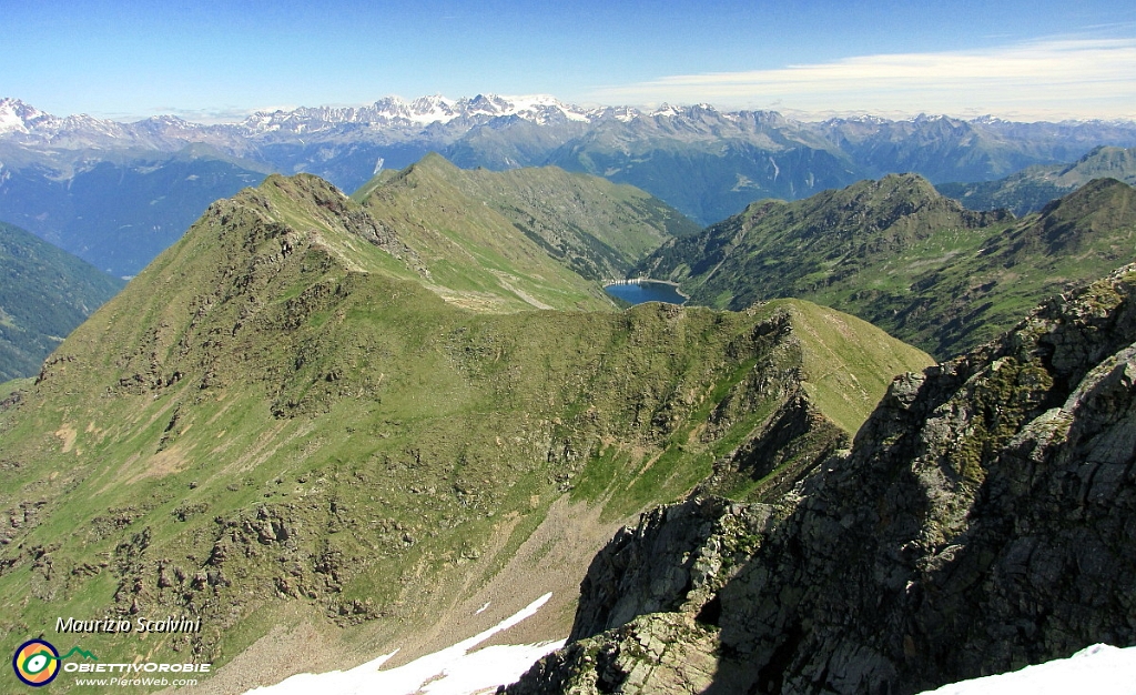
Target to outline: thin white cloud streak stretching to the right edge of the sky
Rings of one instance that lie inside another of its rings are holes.
[[[710,102],[815,113],[1136,118],[1136,38],[859,56],[782,69],[674,75],[595,90],[608,104]]]

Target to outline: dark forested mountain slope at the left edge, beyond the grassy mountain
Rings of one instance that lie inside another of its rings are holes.
[[[0,222],[0,381],[31,377],[59,342],[125,284]]]

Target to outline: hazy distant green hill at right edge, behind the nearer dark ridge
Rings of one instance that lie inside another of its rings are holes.
[[[999,181],[941,183],[935,188],[972,210],[1004,208],[1022,216],[1103,177],[1136,184],[1136,148],[1099,147],[1072,164],[1035,165]]]

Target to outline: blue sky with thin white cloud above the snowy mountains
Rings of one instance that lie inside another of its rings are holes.
[[[0,0],[0,97],[119,119],[488,92],[1136,118],[1130,0]]]

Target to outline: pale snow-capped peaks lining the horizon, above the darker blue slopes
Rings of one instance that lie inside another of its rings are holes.
[[[518,124],[529,127],[510,130]],[[855,157],[849,148],[862,144],[866,139],[889,143],[888,148],[903,149],[908,143],[896,143],[897,139],[908,139],[917,131],[921,134],[914,140],[921,147],[927,144],[928,136],[954,143],[970,138],[976,146],[1005,147],[995,141],[1005,140],[1008,135],[1034,141],[1029,147],[1035,151],[1037,141],[1050,149],[1058,141],[1077,142],[1085,151],[1095,144],[1136,144],[1136,123],[1129,122],[1025,124],[993,116],[962,121],[920,114],[905,121],[863,115],[812,123],[787,118],[776,111],[721,111],[708,104],[682,107],[665,104],[652,109],[629,106],[584,108],[550,96],[478,94],[450,99],[434,94],[410,101],[386,97],[369,106],[257,111],[240,123],[224,124],[193,123],[173,115],[151,116],[133,123],[100,119],[85,114],[60,117],[18,99],[0,99],[0,146],[15,143],[55,152],[87,149],[170,152],[200,143],[215,147],[228,156],[268,159],[270,165],[277,167],[279,163],[265,157],[259,148],[281,143],[309,147],[317,142],[336,146],[414,143],[417,148],[442,151],[486,127],[495,132],[490,138],[500,141],[506,149],[524,152],[495,152],[490,154],[485,162],[459,164],[490,168],[561,164],[556,157],[549,157],[550,151],[574,141],[587,147],[604,142],[604,147],[629,152],[642,147],[644,140],[657,139],[687,143],[735,141],[774,151],[803,144],[812,149],[820,147],[837,156]],[[971,138],[971,133],[977,133],[978,138]],[[991,136],[985,138],[984,133]],[[534,139],[540,142],[538,155],[531,151]],[[1059,144],[1051,156],[1064,158],[1064,151],[1060,150]],[[523,154],[527,156],[517,156]],[[1046,156],[1037,154],[1042,159]],[[874,168],[889,171],[887,165]],[[290,167],[282,171],[291,173]],[[291,171],[312,169],[298,166]],[[896,171],[919,169],[909,167]],[[936,174],[928,175],[934,177]]]

